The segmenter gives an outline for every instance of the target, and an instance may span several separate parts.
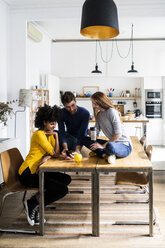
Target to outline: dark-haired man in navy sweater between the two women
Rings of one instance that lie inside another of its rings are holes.
[[[62,119],[58,123],[60,146],[62,155],[65,158],[72,158],[68,151],[80,152],[83,138],[88,135],[90,113],[85,108],[77,106],[75,96],[70,91],[61,96],[61,102],[64,108]]]

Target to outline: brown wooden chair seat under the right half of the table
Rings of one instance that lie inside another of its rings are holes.
[[[116,184],[141,186],[148,183],[148,175],[138,172],[117,172]]]

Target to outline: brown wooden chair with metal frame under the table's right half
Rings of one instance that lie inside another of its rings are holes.
[[[152,157],[152,146],[149,145],[147,146],[146,148],[146,155],[148,156],[149,160],[151,160],[151,157]],[[146,193],[149,193],[148,191],[148,184],[149,182],[149,176],[147,173],[138,173],[138,172],[117,172],[116,173],[116,184],[117,185],[132,185],[132,186],[138,186],[138,187],[144,187],[145,186],[145,192]],[[131,191],[130,191],[131,192]],[[126,192],[124,191],[124,194],[125,193],[130,193],[130,192]],[[121,193],[121,192],[120,192]],[[134,193],[137,193],[137,192],[134,192]],[[140,192],[138,192],[140,193]],[[131,192],[132,194],[132,192]],[[149,199],[147,201],[126,201],[126,200],[123,200],[123,201],[117,201],[117,203],[148,203],[149,202]],[[156,223],[156,215],[155,215],[155,212],[154,212],[154,221],[153,221],[153,224]],[[131,224],[146,224],[148,225],[149,223],[148,222],[130,222],[130,221],[120,221],[120,222],[117,222],[116,224],[118,225],[131,225]]]

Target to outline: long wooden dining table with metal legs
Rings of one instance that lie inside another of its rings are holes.
[[[147,172],[149,174],[149,236],[153,236],[153,175],[152,164],[136,136],[131,137],[133,150],[126,158],[116,159],[114,164],[108,164],[105,159],[97,156],[83,157],[77,163],[74,160],[62,158],[49,159],[39,169],[40,191],[40,235],[44,235],[44,173],[45,172],[90,172],[92,187],[92,232],[100,236],[100,180],[101,172]]]

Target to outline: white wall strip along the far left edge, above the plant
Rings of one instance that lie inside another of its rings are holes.
[[[7,101],[7,72],[8,72],[8,18],[9,10],[7,5],[0,0],[0,102]],[[0,137],[7,136],[7,127],[0,124]]]

